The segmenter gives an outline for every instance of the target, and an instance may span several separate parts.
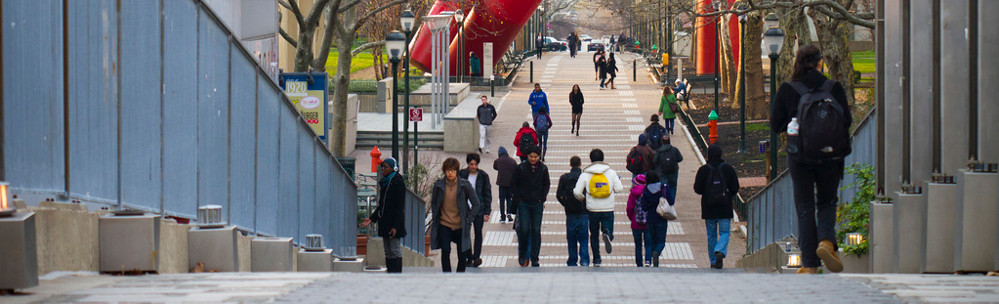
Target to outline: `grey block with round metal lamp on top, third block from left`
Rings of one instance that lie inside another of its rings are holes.
[[[187,266],[204,263],[205,271],[238,272],[239,249],[236,226],[191,228],[187,231]]]

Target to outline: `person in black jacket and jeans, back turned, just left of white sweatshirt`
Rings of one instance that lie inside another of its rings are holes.
[[[590,248],[589,212],[586,211],[586,203],[572,194],[579,175],[583,174],[583,170],[579,168],[582,165],[579,156],[573,155],[569,159],[569,166],[572,169],[559,177],[555,197],[565,208],[565,240],[569,244],[569,260],[566,261],[566,265],[576,266],[578,260],[579,266],[587,267],[590,266],[590,252],[587,250]]]

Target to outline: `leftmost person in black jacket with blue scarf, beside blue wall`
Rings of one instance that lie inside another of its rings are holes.
[[[402,272],[402,238],[406,237],[406,183],[398,172],[398,162],[387,158],[378,165],[378,207],[361,227],[378,223],[378,236],[385,247],[385,266],[390,273]]]

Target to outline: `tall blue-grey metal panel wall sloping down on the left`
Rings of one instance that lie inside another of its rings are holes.
[[[66,5],[66,7],[63,7]],[[322,234],[356,255],[357,188],[198,0],[5,1],[0,180],[22,195]]]

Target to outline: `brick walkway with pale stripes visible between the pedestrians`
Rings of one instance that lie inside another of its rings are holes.
[[[551,175],[551,190],[545,203],[545,212],[541,244],[542,267],[565,267],[568,250],[565,235],[565,213],[555,198],[558,179],[570,169],[569,158],[579,156],[583,167],[589,165],[589,153],[593,148],[604,151],[605,162],[621,176],[625,191],[615,196],[614,213],[614,246],[613,252],[607,254],[601,242],[602,267],[635,267],[634,238],[631,225],[626,215],[628,193],[630,193],[631,173],[625,169],[625,158],[631,147],[638,143],[638,135],[649,124],[649,116],[655,113],[659,105],[661,89],[653,84],[644,70],[640,70],[638,81],[631,79],[630,54],[617,53],[618,78],[615,79],[616,90],[599,89],[599,81],[593,80],[592,53],[582,53],[577,58],[569,57],[568,53],[545,53],[541,60],[534,62],[534,80],[541,84],[542,90],[548,94],[548,103],[552,111],[553,126],[549,131],[548,154],[545,164]],[[639,69],[643,67],[639,65]],[[506,146],[511,153],[515,152],[513,138],[520,125],[531,120],[530,106],[527,97],[534,89],[530,83],[530,71],[520,71],[512,91],[505,96],[503,106],[498,107],[499,115],[494,123],[491,137],[493,151],[498,145]],[[574,84],[578,84],[585,96],[582,128],[580,135],[570,133],[571,106],[568,101],[569,92]],[[708,249],[704,221],[700,218],[700,196],[693,193],[693,180],[697,168],[701,165],[695,150],[681,130],[677,120],[676,134],[672,143],[684,155],[680,165],[680,178],[677,191],[677,212],[680,219],[670,222],[667,236],[667,246],[660,261],[664,267],[675,268],[707,268]],[[492,161],[495,155],[483,158],[483,168],[493,174]],[[491,220],[484,227],[485,242],[483,245],[483,265],[481,267],[518,267],[517,238],[512,223],[500,223],[498,200],[494,193]],[[733,227],[735,227],[733,225]],[[732,267],[735,260],[745,252],[745,239],[733,233],[729,245],[729,258],[726,265]],[[591,254],[592,256],[592,254]],[[519,267],[518,267],[519,268]]]

